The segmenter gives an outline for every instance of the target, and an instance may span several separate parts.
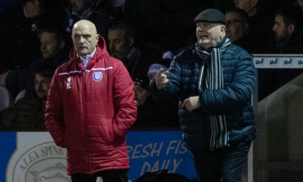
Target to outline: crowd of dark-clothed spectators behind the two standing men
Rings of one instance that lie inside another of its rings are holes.
[[[11,108],[4,111],[0,108],[0,127],[44,129],[45,95],[42,96],[42,92],[49,86],[39,85],[42,85],[41,79],[49,82],[49,73],[75,54],[71,30],[79,20],[89,20],[96,25],[98,34],[106,40],[109,54],[121,60],[129,71],[138,106],[134,127],[178,126],[177,99],[165,103],[156,101],[148,86],[158,70],[170,66],[174,55],[195,45],[196,38],[192,36],[195,15],[207,8],[221,10],[225,14],[227,37],[232,44],[251,54],[303,53],[303,0],[280,0],[270,6],[274,2],[3,1],[2,7],[7,8],[1,9],[0,16],[3,22],[0,87],[9,91]],[[301,69],[260,69],[259,100],[302,72]],[[14,103],[20,92],[24,93],[24,98]],[[24,115],[25,112],[31,115]],[[32,116],[37,117],[31,119]]]

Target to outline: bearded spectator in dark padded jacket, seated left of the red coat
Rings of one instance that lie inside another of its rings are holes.
[[[24,97],[0,115],[0,124],[10,129],[44,130],[44,109],[54,69],[42,67],[35,73],[35,95]]]

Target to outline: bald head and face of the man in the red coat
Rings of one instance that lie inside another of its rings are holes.
[[[87,20],[81,20],[73,27],[72,39],[77,54],[86,58],[86,56],[90,55],[96,48],[99,35],[93,23]]]

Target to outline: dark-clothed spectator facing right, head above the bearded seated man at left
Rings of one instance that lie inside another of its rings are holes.
[[[38,31],[40,38],[40,51],[42,57],[30,64],[29,69],[16,69],[2,74],[0,78],[13,97],[26,89],[26,96],[35,92],[35,72],[43,66],[56,69],[67,60],[68,53],[65,47],[65,36],[56,28],[48,27]],[[69,50],[68,50],[69,51]]]

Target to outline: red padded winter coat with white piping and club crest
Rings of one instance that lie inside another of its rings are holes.
[[[129,169],[126,133],[136,120],[133,83],[108,55],[102,37],[84,69],[80,57],[57,68],[47,95],[45,125],[67,149],[67,173]]]

